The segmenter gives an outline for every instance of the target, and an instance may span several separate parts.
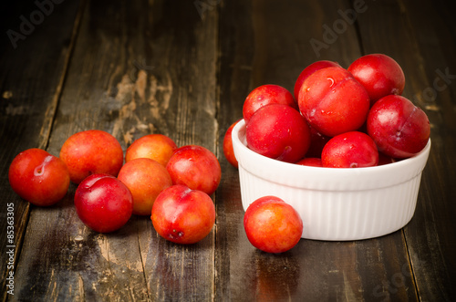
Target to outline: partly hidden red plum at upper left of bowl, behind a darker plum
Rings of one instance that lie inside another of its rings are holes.
[[[268,104],[283,104],[298,109],[290,91],[274,84],[262,85],[252,90],[244,100],[243,117],[245,123],[249,122],[257,109]]]

